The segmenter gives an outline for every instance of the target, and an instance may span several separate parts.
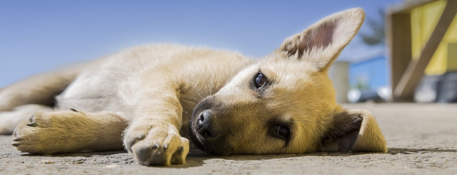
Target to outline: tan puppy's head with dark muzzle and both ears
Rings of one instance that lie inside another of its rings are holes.
[[[194,109],[194,143],[210,154],[386,152],[372,114],[342,109],[327,75],[364,18],[362,9],[330,15],[239,72]]]

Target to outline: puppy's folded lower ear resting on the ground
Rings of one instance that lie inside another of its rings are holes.
[[[387,144],[372,113],[351,109],[335,113],[333,126],[322,139],[320,151],[387,152]]]

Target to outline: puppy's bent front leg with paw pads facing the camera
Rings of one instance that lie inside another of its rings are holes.
[[[168,91],[170,89],[170,91]],[[174,88],[140,91],[124,134],[128,151],[142,165],[185,164],[189,140],[179,134],[182,108]]]

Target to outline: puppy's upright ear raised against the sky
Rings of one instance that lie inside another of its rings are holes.
[[[329,15],[302,33],[286,38],[278,51],[284,51],[288,57],[310,61],[319,70],[326,70],[354,38],[364,19],[361,8]]]

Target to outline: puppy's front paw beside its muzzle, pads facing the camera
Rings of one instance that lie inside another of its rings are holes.
[[[133,125],[127,129],[124,145],[142,165],[185,164],[189,140],[170,124]]]

